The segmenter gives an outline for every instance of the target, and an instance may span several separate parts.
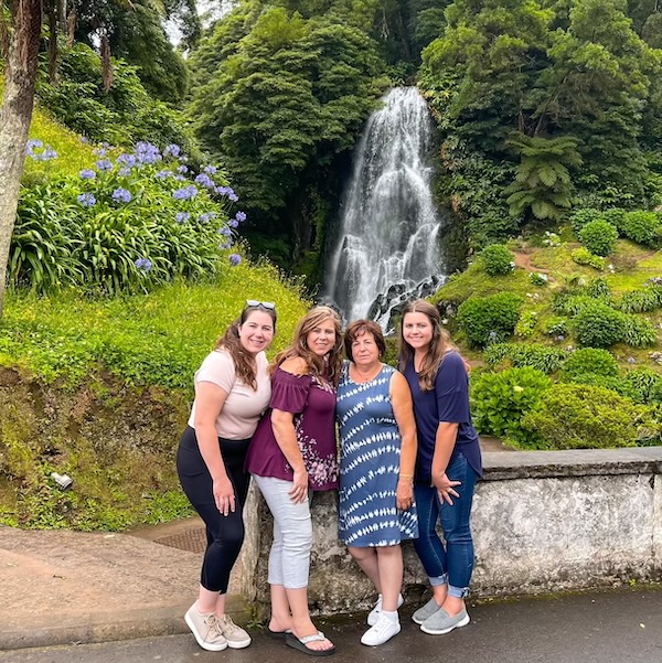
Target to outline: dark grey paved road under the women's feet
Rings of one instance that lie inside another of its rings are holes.
[[[426,635],[403,614],[403,632],[380,648],[359,638],[362,621],[327,623],[330,663],[662,663],[662,590],[586,594],[470,608],[471,623]],[[256,632],[245,650],[205,652],[192,635],[0,652],[0,663],[303,663]]]

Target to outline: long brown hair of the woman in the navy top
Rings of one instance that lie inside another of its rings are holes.
[[[448,350],[453,347],[450,343],[450,335],[441,327],[441,316],[439,316],[439,310],[436,306],[433,306],[425,299],[410,301],[403,310],[403,317],[398,327],[398,368],[401,371],[405,370],[408,362],[414,362],[414,349],[405,341],[404,336],[405,316],[407,313],[424,313],[428,317],[433,325],[433,340],[418,372],[420,391],[431,392],[435,388],[435,378],[444,361],[444,355]]]

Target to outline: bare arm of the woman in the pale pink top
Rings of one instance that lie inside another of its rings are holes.
[[[212,382],[200,382],[195,392],[195,437],[202,459],[212,477],[212,492],[216,509],[227,515],[235,510],[235,494],[227,478],[225,463],[218,447],[216,418],[223,410],[227,392]]]

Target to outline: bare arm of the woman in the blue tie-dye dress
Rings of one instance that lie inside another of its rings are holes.
[[[399,479],[397,482],[396,503],[398,509],[409,509],[414,501],[414,468],[416,466],[416,421],[412,392],[405,376],[394,373],[391,378],[391,403],[393,414],[403,440],[401,450]]]

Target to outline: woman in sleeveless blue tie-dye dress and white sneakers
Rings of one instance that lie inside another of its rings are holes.
[[[416,426],[405,377],[383,364],[380,327],[357,320],[345,332],[335,415],[340,425],[340,538],[372,580],[378,598],[361,642],[399,633],[401,541],[418,536],[413,479]]]

